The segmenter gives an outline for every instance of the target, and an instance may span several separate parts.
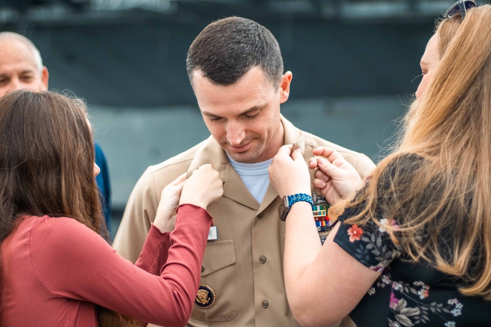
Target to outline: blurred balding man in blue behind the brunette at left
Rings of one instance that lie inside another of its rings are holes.
[[[0,97],[20,89],[33,92],[46,91],[48,90],[48,78],[48,68],[43,66],[39,50],[29,39],[13,32],[0,32]],[[106,226],[110,231],[109,169],[106,156],[97,143],[95,143],[95,156],[95,162],[101,169],[96,181],[101,192]]]

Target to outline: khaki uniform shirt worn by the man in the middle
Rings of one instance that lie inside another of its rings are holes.
[[[282,124],[284,143],[292,144],[300,139],[305,161],[313,156],[315,148],[327,146],[339,151],[361,177],[375,167],[364,154],[302,132],[283,117]],[[191,175],[193,170],[207,163],[212,164],[223,180],[223,196],[208,206],[217,226],[218,239],[208,241],[201,269],[201,284],[214,291],[215,302],[208,308],[194,304],[189,326],[300,326],[289,308],[285,292],[285,224],[278,217],[280,199],[270,184],[263,202],[258,203],[211,136],[145,171],[130,196],[114,248],[135,262],[155,218],[164,186],[184,172]],[[319,285],[322,283],[319,281]],[[207,299],[210,299],[208,293],[204,294],[203,303]],[[345,318],[341,326],[354,324]]]

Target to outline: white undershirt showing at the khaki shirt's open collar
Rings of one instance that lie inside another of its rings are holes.
[[[266,194],[266,190],[268,189],[268,185],[270,184],[268,167],[270,167],[273,158],[263,162],[246,164],[235,161],[229,157],[228,154],[227,157],[237,174],[241,176],[247,190],[249,190],[256,201],[261,203]]]

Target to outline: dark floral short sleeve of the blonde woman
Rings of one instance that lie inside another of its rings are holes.
[[[347,225],[345,220],[355,215],[356,207],[346,209],[339,216],[339,229],[334,236],[336,242],[344,251],[368,268],[382,272],[401,252],[392,241],[387,227],[397,230],[393,219],[381,219],[379,226],[370,220],[363,226]]]

